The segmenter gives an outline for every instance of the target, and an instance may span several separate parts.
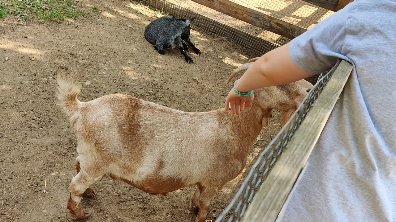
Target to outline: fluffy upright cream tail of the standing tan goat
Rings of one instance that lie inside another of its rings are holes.
[[[59,100],[57,105],[63,109],[68,117],[71,117],[78,111],[78,106],[81,103],[77,99],[81,86],[70,78],[66,79],[61,74],[58,74],[56,80],[58,83],[57,98]]]

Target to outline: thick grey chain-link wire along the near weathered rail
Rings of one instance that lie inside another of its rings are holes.
[[[341,60],[339,60],[331,70],[320,74],[318,81],[307,94],[295,113],[291,116],[289,121],[282,127],[280,132],[274,137],[274,139],[272,139],[267,147],[257,156],[256,162],[251,166],[251,169],[242,182],[238,192],[236,192],[234,198],[217,217],[215,222],[239,222],[242,216],[244,216],[249,203],[252,201],[261,183],[265,180],[270,169],[274,166],[276,160],[278,160],[284,149],[287,147],[287,144],[301,125],[301,122],[307,116],[312,104],[318,98],[340,62]],[[289,130],[286,130],[287,128],[289,128]]]

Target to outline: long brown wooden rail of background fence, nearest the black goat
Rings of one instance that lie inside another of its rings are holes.
[[[229,0],[192,1],[289,39],[293,39],[307,31],[301,26],[287,23]]]

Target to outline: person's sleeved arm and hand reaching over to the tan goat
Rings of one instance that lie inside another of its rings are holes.
[[[330,15],[290,43],[261,56],[235,84],[238,92],[250,92],[256,88],[278,86],[329,70],[339,58],[348,59],[343,52],[349,11],[354,3]],[[239,114],[253,102],[253,94],[238,96],[232,89],[225,101],[225,110]]]

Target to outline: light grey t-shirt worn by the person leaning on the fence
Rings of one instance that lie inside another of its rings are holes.
[[[293,39],[310,73],[354,70],[282,222],[396,221],[396,0],[355,0]]]

